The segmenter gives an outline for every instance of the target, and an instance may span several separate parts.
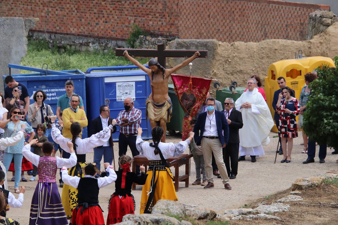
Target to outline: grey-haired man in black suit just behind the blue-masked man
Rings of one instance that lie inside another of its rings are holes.
[[[234,109],[235,101],[226,98],[224,101],[224,115],[229,125],[229,141],[223,148],[223,160],[230,179],[235,179],[238,168],[239,129],[243,127],[242,113]],[[229,158],[231,160],[231,167]]]

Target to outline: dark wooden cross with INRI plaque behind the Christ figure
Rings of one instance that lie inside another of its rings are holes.
[[[163,43],[163,44],[161,44]],[[116,56],[124,56],[123,52],[127,50],[131,57],[142,56],[142,57],[157,57],[157,61],[164,68],[166,67],[167,57],[183,57],[189,58],[194,55],[195,52],[199,52],[201,55],[199,58],[207,58],[208,50],[168,50],[165,47],[164,41],[159,41],[156,49],[115,49]]]

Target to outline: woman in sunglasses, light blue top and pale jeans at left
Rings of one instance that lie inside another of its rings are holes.
[[[0,127],[4,128],[5,130],[5,137],[14,137],[21,129],[21,124],[25,124],[25,132],[30,134],[30,137],[28,139],[28,142],[30,142],[35,132],[32,129],[32,127],[25,121],[19,120],[19,115],[21,115],[21,110],[18,107],[13,107],[9,115],[11,116],[9,119],[9,122],[6,124],[0,123]],[[21,163],[23,160],[22,155],[22,148],[24,146],[25,138],[22,137],[22,139],[14,146],[7,147],[4,150],[4,156],[3,156],[3,164],[6,167],[6,171],[9,170],[10,163],[12,159],[14,159],[14,169],[15,169],[15,184],[14,184],[14,190],[15,193],[20,193],[19,191],[19,182],[20,182],[20,175],[21,175]]]

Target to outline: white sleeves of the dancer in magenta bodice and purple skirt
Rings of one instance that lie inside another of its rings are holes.
[[[43,156],[38,156],[37,154],[34,154],[33,152],[31,152],[30,144],[26,144],[22,148],[22,154],[29,162],[31,162],[37,167],[39,165],[40,157],[43,157]],[[63,166],[71,168],[76,165],[77,158],[76,158],[75,152],[70,153],[69,159],[59,158],[59,157],[55,157],[55,158],[56,158],[57,168],[62,168]]]

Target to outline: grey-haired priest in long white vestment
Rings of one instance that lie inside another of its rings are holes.
[[[235,102],[235,107],[242,113],[243,128],[239,130],[238,161],[251,156],[251,162],[256,162],[256,156],[263,156],[262,145],[270,143],[269,133],[273,119],[261,93],[255,88],[256,79],[247,81],[248,89]]]

